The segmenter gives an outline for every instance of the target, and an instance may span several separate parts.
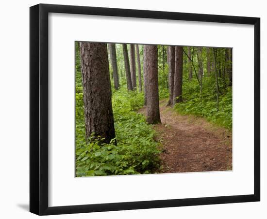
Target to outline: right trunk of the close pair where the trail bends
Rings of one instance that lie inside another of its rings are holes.
[[[175,46],[175,71],[173,82],[173,106],[175,103],[183,102],[183,46]]]

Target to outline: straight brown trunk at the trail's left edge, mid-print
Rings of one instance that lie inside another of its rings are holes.
[[[147,122],[149,124],[156,124],[161,123],[158,89],[158,47],[156,45],[145,45],[145,56]]]

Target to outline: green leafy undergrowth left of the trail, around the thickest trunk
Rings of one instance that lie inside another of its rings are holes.
[[[127,91],[125,85],[113,90],[112,105],[117,146],[96,138],[85,141],[83,93],[76,83],[76,176],[156,173],[159,143],[155,131],[136,111],[143,106],[143,93]]]

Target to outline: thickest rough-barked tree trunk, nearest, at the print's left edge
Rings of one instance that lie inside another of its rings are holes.
[[[80,43],[86,139],[92,134],[110,143],[115,138],[107,45]]]

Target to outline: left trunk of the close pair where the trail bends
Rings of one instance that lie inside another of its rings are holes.
[[[169,46],[169,100],[167,106],[173,104],[173,84],[175,71],[175,46]]]

